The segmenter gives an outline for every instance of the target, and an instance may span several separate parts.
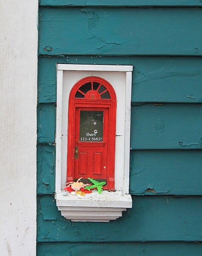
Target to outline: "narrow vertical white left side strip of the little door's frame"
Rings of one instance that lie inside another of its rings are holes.
[[[55,192],[61,192],[61,154],[62,154],[62,89],[63,89],[63,71],[57,71],[57,108],[56,108],[56,136],[55,143],[57,151],[55,156]]]

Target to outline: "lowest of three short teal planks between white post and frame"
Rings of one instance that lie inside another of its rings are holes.
[[[37,193],[55,192],[55,146],[38,144],[37,147]]]

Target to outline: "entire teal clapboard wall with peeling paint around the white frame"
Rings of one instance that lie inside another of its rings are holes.
[[[202,255],[202,1],[39,6],[37,255]],[[133,65],[133,208],[116,221],[71,222],[56,207],[57,63]]]

